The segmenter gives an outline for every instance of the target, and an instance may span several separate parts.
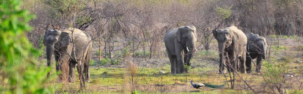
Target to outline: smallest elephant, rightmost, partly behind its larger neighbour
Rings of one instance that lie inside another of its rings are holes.
[[[246,72],[251,73],[251,60],[257,58],[256,72],[261,70],[262,59],[265,59],[267,53],[267,44],[264,37],[260,37],[258,34],[249,33],[247,37],[247,54],[246,54]]]

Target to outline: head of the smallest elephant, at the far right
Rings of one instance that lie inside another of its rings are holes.
[[[266,39],[264,37],[255,37],[251,38],[251,44],[248,44],[248,46],[252,46],[249,50],[249,52],[254,52],[257,54],[261,54],[262,58],[265,59],[265,55],[267,53],[267,44]]]

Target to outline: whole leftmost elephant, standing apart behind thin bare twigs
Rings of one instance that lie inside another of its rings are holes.
[[[75,41],[75,52],[72,50],[72,34]],[[69,31],[69,33],[67,33]],[[51,66],[52,54],[54,52],[56,61],[56,70],[58,68],[58,61],[66,59],[69,62],[69,76],[68,82],[75,82],[75,65],[77,64],[78,73],[85,74],[85,80],[89,82],[89,64],[91,60],[92,43],[91,37],[84,31],[79,29],[69,28],[66,30],[48,30],[43,39],[43,44],[46,46],[46,58],[48,67]],[[75,53],[75,54],[74,54]],[[75,58],[74,58],[75,57]],[[82,58],[84,61],[82,61]],[[84,63],[84,64],[83,64]],[[80,67],[83,65],[83,67]],[[83,71],[84,70],[84,71]],[[80,75],[79,75],[80,79]]]

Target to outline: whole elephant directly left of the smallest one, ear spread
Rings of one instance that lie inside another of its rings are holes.
[[[245,48],[247,38],[245,34],[235,26],[226,27],[218,31],[212,30],[212,33],[218,41],[218,49],[220,52],[219,74],[225,73],[225,67],[227,67],[230,72],[240,70],[241,73],[246,73]]]

